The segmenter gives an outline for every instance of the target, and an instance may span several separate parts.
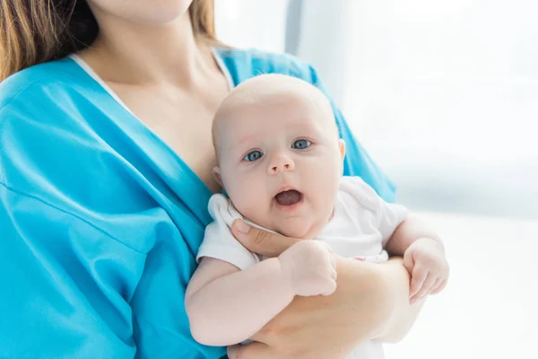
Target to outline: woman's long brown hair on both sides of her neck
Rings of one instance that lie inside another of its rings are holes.
[[[213,9],[213,0],[193,0],[188,12],[195,36],[218,43]],[[0,81],[86,48],[98,32],[85,0],[0,0]]]

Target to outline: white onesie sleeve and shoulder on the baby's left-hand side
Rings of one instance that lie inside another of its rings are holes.
[[[241,270],[247,269],[260,261],[255,253],[247,250],[235,239],[231,224],[238,218],[243,219],[230,200],[221,194],[211,197],[208,205],[213,223],[205,227],[204,241],[196,255],[199,262],[202,257],[224,260]]]

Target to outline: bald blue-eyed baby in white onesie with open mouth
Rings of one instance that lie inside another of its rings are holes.
[[[403,206],[386,203],[358,177],[343,177],[345,144],[316,87],[281,74],[239,84],[215,115],[213,142],[213,175],[230,199],[217,194],[209,202],[214,222],[187,287],[200,343],[241,343],[295,295],[334,293],[336,255],[372,262],[404,256],[412,294],[444,287],[448,266],[437,235],[425,238],[430,232],[406,219]],[[305,241],[278,258],[260,258],[233,237],[238,218]],[[361,344],[353,357],[381,358],[382,347]]]

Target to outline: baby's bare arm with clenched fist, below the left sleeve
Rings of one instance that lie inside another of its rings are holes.
[[[324,243],[300,241],[278,258],[240,271],[202,258],[185,299],[191,332],[208,346],[230,346],[252,337],[295,295],[329,295],[336,289],[336,260]]]

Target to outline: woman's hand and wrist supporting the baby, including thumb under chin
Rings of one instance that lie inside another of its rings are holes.
[[[242,221],[234,223],[232,232],[248,250],[268,257],[279,256],[298,241],[248,228]],[[394,297],[408,303],[409,275],[401,260],[378,265],[337,258],[337,269],[332,295],[296,297],[252,337],[255,343],[230,347],[230,359],[339,358],[364,340],[387,336]],[[394,277],[404,293],[393,290]]]

